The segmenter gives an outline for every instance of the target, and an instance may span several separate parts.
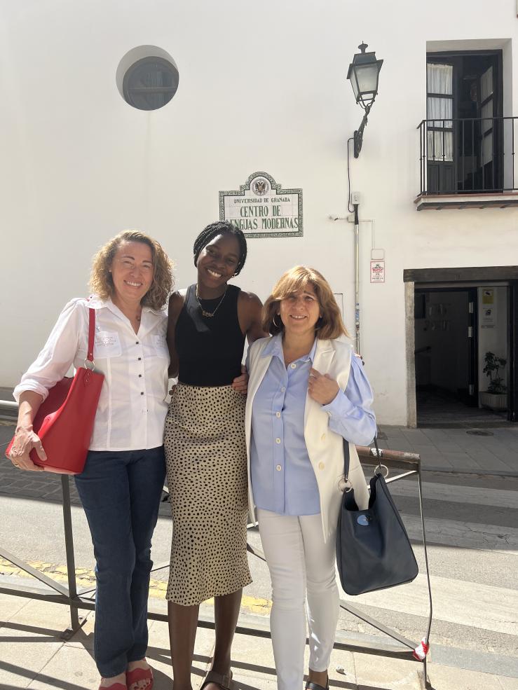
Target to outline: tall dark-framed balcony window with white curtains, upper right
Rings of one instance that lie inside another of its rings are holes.
[[[503,188],[502,51],[428,53],[426,92],[428,193]]]

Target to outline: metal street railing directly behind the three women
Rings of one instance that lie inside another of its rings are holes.
[[[0,406],[1,407],[1,406]],[[430,572],[428,568],[428,551],[426,546],[426,533],[425,533],[425,523],[423,516],[423,492],[422,492],[422,479],[421,479],[421,459],[416,453],[406,453],[397,450],[382,450],[379,451],[379,457],[376,456],[376,450],[374,448],[367,448],[364,446],[357,446],[358,455],[360,460],[363,460],[367,464],[377,464],[381,459],[383,464],[388,467],[388,469],[400,469],[401,474],[396,474],[393,477],[386,479],[387,483],[393,481],[399,481],[402,478],[407,478],[412,475],[417,476],[418,480],[418,497],[419,506],[421,513],[421,530],[423,535],[423,549],[425,558],[425,570],[426,579],[428,585],[428,599],[429,599],[429,612],[428,612],[428,625],[425,635],[425,640],[429,642],[430,640],[430,630],[432,626],[432,591],[430,585]],[[63,508],[63,534],[64,534],[64,545],[67,560],[67,577],[68,586],[65,586],[61,582],[48,577],[46,573],[36,570],[34,567],[25,563],[24,560],[18,558],[13,553],[6,551],[6,549],[0,544],[0,558],[8,560],[13,563],[20,570],[32,575],[41,586],[22,586],[20,584],[11,584],[6,582],[6,578],[0,580],[0,593],[15,595],[19,597],[25,597],[30,599],[38,599],[47,602],[52,602],[55,604],[66,605],[70,609],[70,626],[63,631],[62,638],[64,640],[69,640],[74,633],[76,633],[86,618],[79,616],[79,611],[82,610],[95,610],[95,588],[83,588],[78,590],[76,581],[76,565],[74,558],[74,534],[72,530],[72,520],[71,520],[71,497],[70,497],[70,485],[69,476],[62,474],[61,486],[62,486],[62,508]],[[168,488],[164,487],[164,491],[168,492]],[[253,525],[248,525],[248,527],[253,527]],[[261,560],[266,560],[264,554],[259,551],[259,549],[252,547],[247,544],[247,551],[253,556],[260,558]],[[169,567],[169,562],[162,563],[153,568],[152,572],[158,570],[164,570]],[[340,606],[342,609],[347,611],[349,614],[355,616],[357,619],[368,623],[376,630],[381,633],[388,635],[392,640],[398,642],[399,644],[367,644],[358,642],[357,640],[347,640],[347,642],[335,642],[334,648],[347,650],[347,651],[357,651],[362,654],[374,654],[379,656],[390,656],[393,658],[405,659],[407,661],[417,661],[413,656],[414,649],[418,647],[419,641],[409,640],[404,635],[400,635],[397,631],[392,628],[388,628],[383,625],[380,621],[372,618],[362,612],[357,607],[350,604],[348,601],[340,600]],[[161,614],[158,612],[149,611],[149,619],[156,621],[168,621],[168,616],[166,614]],[[214,628],[214,621],[203,619],[200,617],[198,621],[198,626],[200,628]],[[254,635],[256,637],[270,637],[269,630],[261,628],[259,626],[238,626],[236,628],[236,633],[241,635]],[[421,663],[421,662],[418,662]],[[425,683],[427,687],[430,687],[428,682],[428,672],[426,665],[426,657],[423,661],[423,670]]]

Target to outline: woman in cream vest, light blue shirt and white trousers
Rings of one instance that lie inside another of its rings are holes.
[[[355,444],[376,433],[372,390],[318,270],[285,272],[264,305],[271,338],[250,346],[245,415],[250,513],[257,512],[272,581],[271,637],[279,690],[300,690],[306,612],[309,679],[329,686],[339,616],[336,523],[348,441],[357,504],[368,495]]]

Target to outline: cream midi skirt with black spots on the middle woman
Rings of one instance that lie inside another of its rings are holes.
[[[166,598],[191,606],[250,584],[245,396],[179,383],[165,419],[172,509]]]

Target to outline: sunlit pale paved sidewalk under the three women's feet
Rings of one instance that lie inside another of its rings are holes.
[[[165,611],[164,602],[150,600],[150,605]],[[93,613],[88,613],[83,628],[69,642],[64,642],[60,635],[69,624],[67,607],[0,594],[0,608],[0,690],[97,690],[99,680],[92,651]],[[240,620],[240,624],[246,623]],[[192,668],[193,690],[202,682],[213,644],[213,630],[199,628]],[[155,690],[172,689],[169,649],[167,624],[150,621],[148,659],[155,670]],[[432,653],[428,674],[435,690],[518,688],[516,678],[434,665]],[[237,689],[275,690],[271,641],[236,635],[233,677]],[[421,663],[339,650],[333,652],[329,679],[332,690],[423,690],[425,687]]]

